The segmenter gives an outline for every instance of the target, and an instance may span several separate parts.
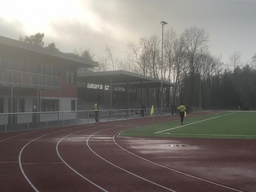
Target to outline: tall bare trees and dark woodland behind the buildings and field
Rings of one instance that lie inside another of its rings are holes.
[[[35,34],[20,41],[44,46],[44,34]],[[241,61],[241,53],[233,52],[228,64],[221,55],[209,51],[209,34],[203,28],[191,26],[177,35],[168,29],[163,37],[163,80],[173,82],[176,87],[164,87],[164,107],[174,107],[181,102],[204,109],[256,109],[256,54],[250,61]],[[138,42],[129,42],[127,56],[115,57],[111,48],[105,45],[105,55],[95,59],[90,49],[74,50],[68,54],[98,60],[96,69],[89,71],[128,70],[133,73],[161,79],[161,44],[159,36],[142,37]],[[47,48],[59,51],[55,43]],[[160,106],[160,88],[151,89],[151,95]],[[148,92],[147,92],[148,93]],[[149,95],[147,95],[149,97]],[[200,102],[201,101],[201,102]]]

